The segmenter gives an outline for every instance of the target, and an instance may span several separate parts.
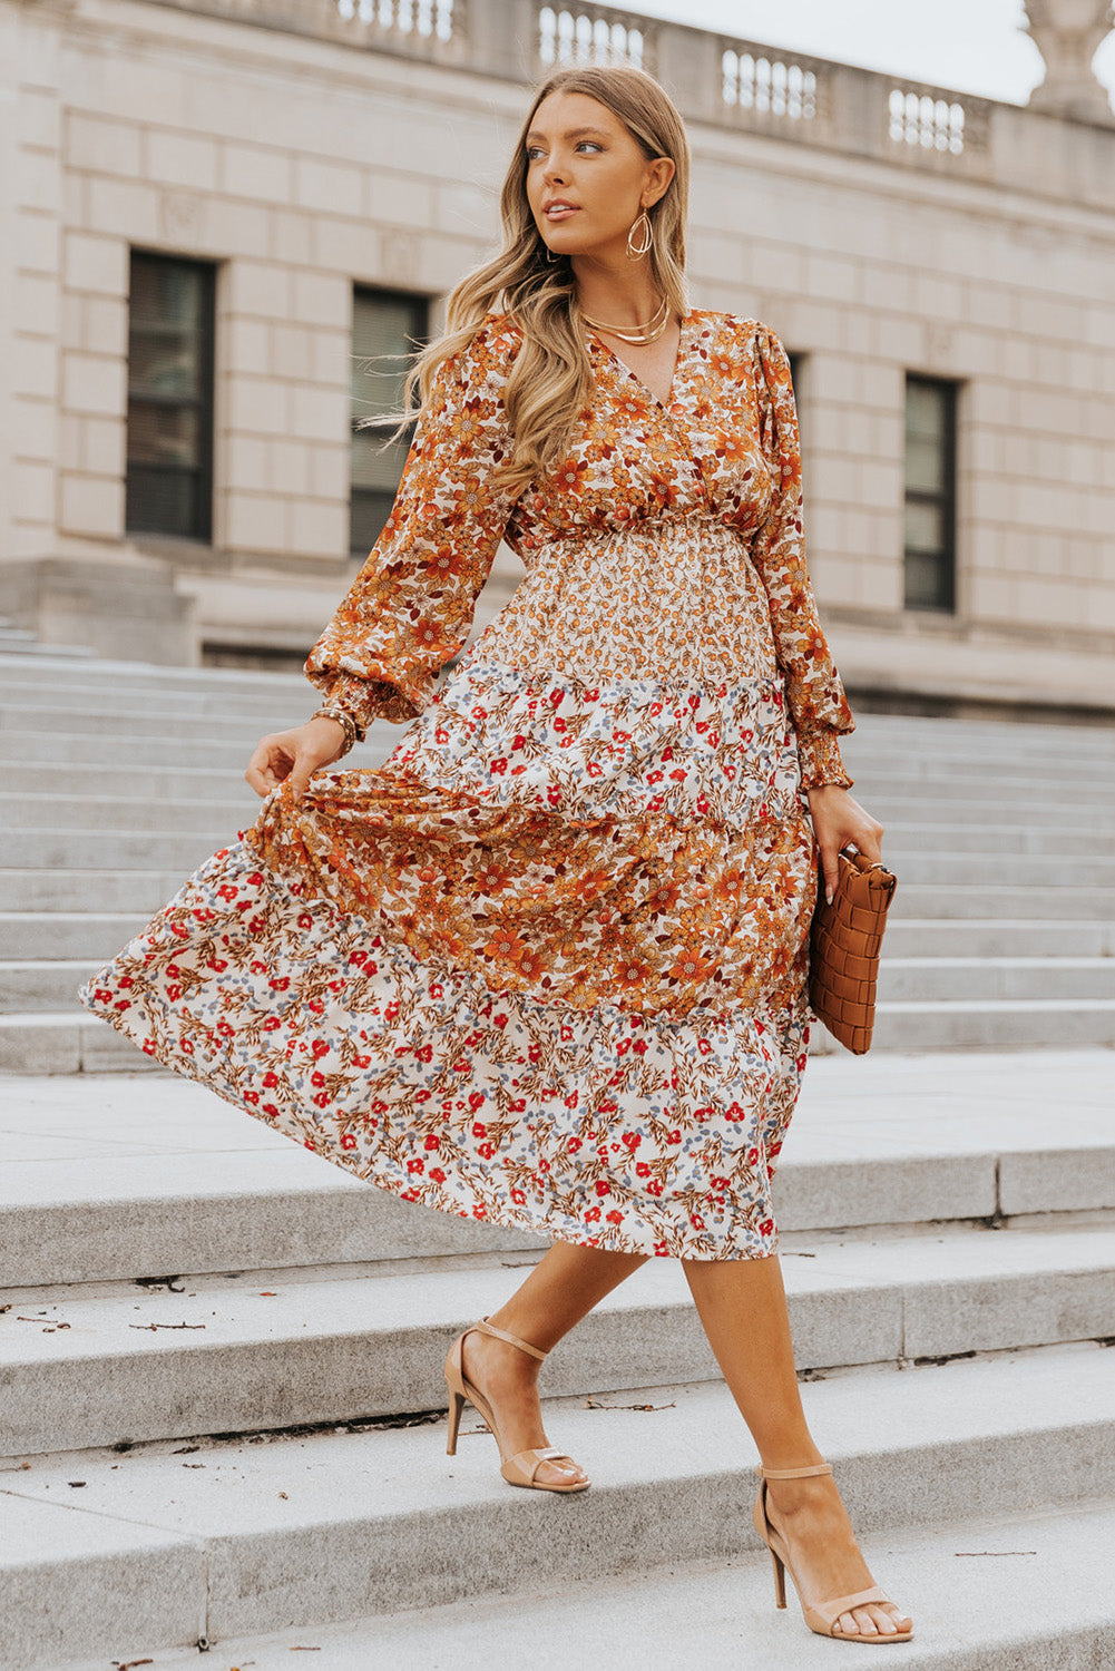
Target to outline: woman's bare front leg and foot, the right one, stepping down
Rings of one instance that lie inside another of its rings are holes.
[[[709,1345],[767,1467],[822,1462],[801,1405],[777,1257],[682,1260]],[[807,1601],[874,1584],[831,1475],[769,1482],[771,1521],[797,1557]],[[893,1636],[909,1619],[893,1604],[843,1613],[846,1636]]]

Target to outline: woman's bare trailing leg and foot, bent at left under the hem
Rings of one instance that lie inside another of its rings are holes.
[[[538,1260],[512,1298],[491,1312],[496,1328],[550,1352],[573,1323],[645,1263],[642,1253],[603,1253],[600,1248],[555,1245]],[[508,1454],[548,1445],[538,1407],[538,1359],[491,1335],[465,1340],[468,1379],[491,1400]],[[585,1470],[568,1462],[543,1462],[540,1481],[583,1479]]]

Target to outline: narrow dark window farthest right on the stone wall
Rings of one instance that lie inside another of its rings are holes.
[[[956,608],[956,386],[906,378],[908,610]]]

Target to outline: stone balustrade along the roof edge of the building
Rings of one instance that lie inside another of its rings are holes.
[[[1115,207],[1115,117],[1067,122],[592,0],[155,3],[518,82],[565,65],[634,63],[664,82],[690,122]]]

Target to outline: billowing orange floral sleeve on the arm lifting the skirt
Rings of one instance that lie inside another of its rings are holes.
[[[361,725],[410,720],[461,648],[513,508],[503,384],[515,346],[488,321],[436,373],[383,533],[321,633],[306,677]]]

